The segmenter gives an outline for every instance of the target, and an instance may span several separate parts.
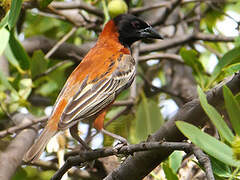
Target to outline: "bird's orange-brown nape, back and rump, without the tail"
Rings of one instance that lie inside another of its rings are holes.
[[[130,50],[124,47],[118,40],[118,32],[113,21],[109,21],[100,34],[96,45],[88,52],[82,62],[76,67],[67,80],[67,86],[61,94],[59,103],[49,120],[51,126],[58,124],[64,107],[77,91],[79,85],[88,76],[88,83],[98,82],[98,79],[109,76],[117,68],[118,58],[122,54],[130,54]],[[114,65],[110,67],[111,63]],[[62,103],[64,101],[64,103]],[[52,121],[52,122],[51,122]]]

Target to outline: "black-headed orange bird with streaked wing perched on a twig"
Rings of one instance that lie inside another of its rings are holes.
[[[131,45],[145,38],[162,39],[162,36],[134,15],[121,14],[105,24],[94,47],[68,77],[45,128],[24,155],[25,162],[38,160],[49,140],[68,128],[85,147],[76,133],[80,121],[93,123],[97,130],[103,129],[107,109],[135,78],[136,62],[131,56]]]

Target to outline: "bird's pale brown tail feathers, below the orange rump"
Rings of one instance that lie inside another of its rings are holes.
[[[23,160],[25,162],[36,161],[41,156],[44,148],[46,147],[47,143],[56,134],[56,130],[53,130],[49,126],[46,126],[43,132],[40,134],[38,139],[32,145],[32,147],[27,151],[24,155]]]

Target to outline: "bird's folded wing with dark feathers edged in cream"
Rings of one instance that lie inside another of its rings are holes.
[[[67,104],[60,118],[58,128],[66,129],[77,121],[94,117],[112,103],[117,94],[131,85],[135,74],[135,61],[128,55],[120,55],[116,67],[98,80],[88,83],[88,76],[79,87],[79,91]]]

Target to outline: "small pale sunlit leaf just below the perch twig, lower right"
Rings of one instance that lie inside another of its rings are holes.
[[[182,151],[174,151],[169,156],[169,167],[173,170],[174,173],[177,173],[178,169],[182,164],[183,152]]]

